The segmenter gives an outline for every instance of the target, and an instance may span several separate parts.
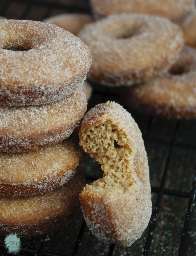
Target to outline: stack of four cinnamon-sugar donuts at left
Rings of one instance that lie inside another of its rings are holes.
[[[91,54],[56,25],[4,19],[0,31],[0,233],[35,236],[66,225],[79,207],[75,131]]]

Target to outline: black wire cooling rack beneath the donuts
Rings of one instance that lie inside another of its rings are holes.
[[[12,19],[42,20],[60,13],[90,13],[88,0],[1,0],[0,15]],[[43,236],[21,238],[18,255],[196,255],[196,120],[152,118],[129,109],[111,90],[93,85],[88,108],[114,100],[137,122],[144,138],[150,168],[153,213],[147,229],[131,247],[100,243],[89,231],[81,210],[67,227]],[[99,89],[97,89],[99,88]],[[100,176],[100,166],[83,160],[90,183]],[[1,255],[6,255],[0,237]]]

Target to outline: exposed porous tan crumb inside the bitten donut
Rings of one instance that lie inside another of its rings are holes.
[[[83,135],[83,150],[101,164],[103,178],[91,185],[99,190],[126,190],[132,185],[130,160],[131,145],[127,145],[126,134],[117,125],[108,121],[86,128]],[[105,177],[105,178],[104,178]],[[88,192],[88,190],[86,190]]]

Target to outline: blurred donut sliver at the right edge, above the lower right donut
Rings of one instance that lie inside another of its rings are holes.
[[[183,29],[184,32],[184,44],[192,47],[196,47],[196,9],[189,25]]]

